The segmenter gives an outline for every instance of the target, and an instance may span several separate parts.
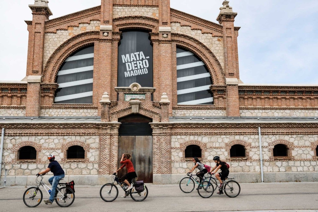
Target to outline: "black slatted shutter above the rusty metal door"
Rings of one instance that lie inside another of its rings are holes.
[[[119,136],[151,136],[152,129],[149,123],[122,123]]]

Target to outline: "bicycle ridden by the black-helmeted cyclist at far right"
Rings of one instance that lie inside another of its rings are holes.
[[[214,192],[214,188],[213,191],[211,191],[210,187],[213,187],[213,184],[211,183],[211,179],[216,180],[214,177],[212,177],[212,175],[210,176],[209,181],[204,181],[202,182],[198,188],[201,186],[202,189],[198,189],[198,194],[203,197],[203,198],[209,198],[212,196],[213,192]],[[241,187],[239,185],[238,182],[236,182],[235,180],[233,180],[234,178],[228,178],[226,177],[225,180],[222,180],[222,187],[219,189],[219,191],[226,194],[226,196],[228,197],[237,197],[241,191]],[[212,182],[214,181],[212,180]],[[227,180],[227,181],[226,181]]]

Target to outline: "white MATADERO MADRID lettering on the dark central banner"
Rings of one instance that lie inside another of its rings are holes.
[[[147,74],[148,59],[143,52],[135,52],[121,55],[122,62],[126,64],[125,77]]]

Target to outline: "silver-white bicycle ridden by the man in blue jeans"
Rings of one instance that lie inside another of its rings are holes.
[[[38,185],[26,189],[23,194],[23,202],[30,208],[37,207],[42,201],[43,194],[41,189],[39,188],[40,186],[42,186],[46,190],[46,193],[50,197],[49,190],[51,190],[51,188],[43,182],[43,175],[45,174],[37,174],[37,178],[35,181]],[[38,180],[38,177],[41,177],[41,180]],[[60,207],[68,207],[73,204],[75,194],[71,188],[66,186],[66,183],[59,183],[58,187],[56,187],[54,199]]]

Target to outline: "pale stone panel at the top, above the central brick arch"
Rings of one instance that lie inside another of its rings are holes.
[[[158,19],[159,8],[158,7],[113,7],[113,18],[124,16],[146,16],[150,18]]]

